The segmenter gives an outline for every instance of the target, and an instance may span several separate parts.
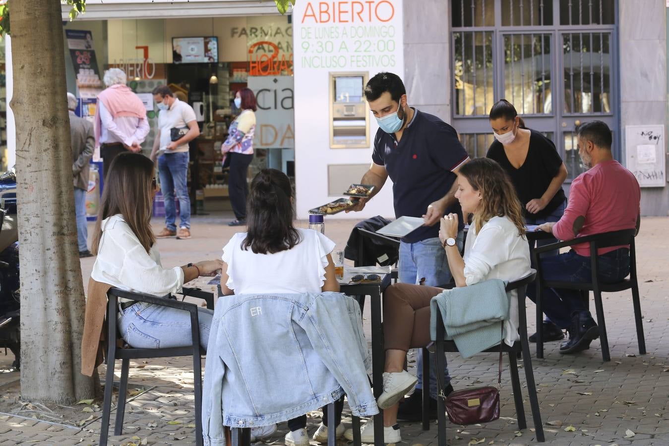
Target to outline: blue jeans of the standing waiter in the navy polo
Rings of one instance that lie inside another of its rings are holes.
[[[462,250],[464,234],[458,232],[458,248]],[[427,286],[444,286],[451,281],[451,271],[448,269],[446,250],[438,237],[425,239],[416,243],[399,243],[399,261],[397,265],[399,282],[404,284],[419,284],[425,277]],[[417,389],[423,388],[423,350],[418,350],[416,377]],[[444,362],[444,385],[448,386],[451,376],[448,374],[448,363]],[[429,395],[437,398],[437,360],[434,353],[429,354]]]

